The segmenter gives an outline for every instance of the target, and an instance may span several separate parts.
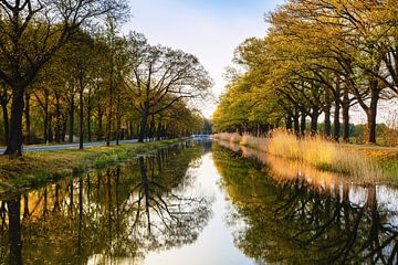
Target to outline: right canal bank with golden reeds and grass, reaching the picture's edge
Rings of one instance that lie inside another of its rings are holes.
[[[284,131],[273,132],[270,138],[238,134],[220,134],[216,138],[342,173],[358,182],[398,182],[397,151],[359,150],[321,138],[297,139]]]

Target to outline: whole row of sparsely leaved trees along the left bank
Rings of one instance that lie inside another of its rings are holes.
[[[8,1],[6,1],[8,2]],[[0,4],[0,141],[177,137],[201,130],[211,80],[197,57],[123,35],[124,1]]]

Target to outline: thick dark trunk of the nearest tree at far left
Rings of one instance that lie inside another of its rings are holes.
[[[22,155],[23,94],[23,87],[15,86],[12,88],[10,141],[4,155]]]

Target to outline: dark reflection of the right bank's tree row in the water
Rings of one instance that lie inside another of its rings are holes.
[[[230,218],[247,223],[237,229],[235,244],[259,263],[397,263],[397,215],[378,205],[375,187],[357,205],[346,183],[321,191],[298,177],[276,181],[255,160],[220,147],[213,158],[237,206]]]

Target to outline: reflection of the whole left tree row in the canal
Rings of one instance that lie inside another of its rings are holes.
[[[198,147],[174,147],[18,197],[24,263],[139,264],[148,251],[193,242],[210,214],[187,173],[199,156]],[[1,235],[11,231],[7,216],[17,225],[6,205]],[[1,237],[0,257],[17,253],[9,242]]]

